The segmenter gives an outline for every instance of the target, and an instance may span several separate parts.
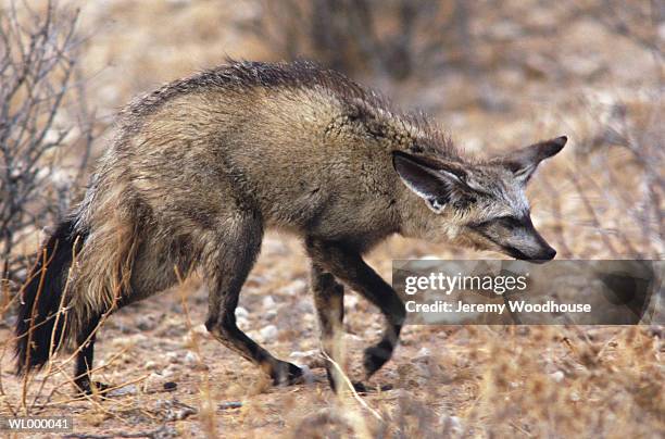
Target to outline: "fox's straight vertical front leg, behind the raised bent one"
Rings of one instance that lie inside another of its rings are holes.
[[[326,273],[317,263],[312,262],[310,274],[314,304],[321,326],[322,349],[326,355],[339,361],[339,338],[342,336],[344,318],[344,287],[335,280],[335,276]],[[326,373],[332,390],[340,384],[338,372],[326,359]]]

